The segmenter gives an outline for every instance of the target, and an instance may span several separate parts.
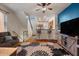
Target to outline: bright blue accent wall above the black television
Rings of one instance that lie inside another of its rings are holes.
[[[79,3],[72,3],[58,15],[59,23],[79,17]]]

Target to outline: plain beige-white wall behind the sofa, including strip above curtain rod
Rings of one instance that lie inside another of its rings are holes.
[[[15,31],[22,36],[23,31],[27,31],[27,29],[23,27],[16,14],[4,6],[0,5],[0,8],[9,12],[9,14],[7,14],[7,31]]]

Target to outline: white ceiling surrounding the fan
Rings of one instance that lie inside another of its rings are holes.
[[[36,8],[40,8],[36,3],[4,3],[2,4],[14,11],[20,21],[26,25],[26,18],[24,11],[29,15],[35,15],[37,17],[43,17],[44,15],[57,15],[61,11],[63,11],[66,7],[68,7],[69,3],[52,3],[49,7],[52,7],[52,11],[46,11],[46,13],[42,13],[42,11],[35,11]]]

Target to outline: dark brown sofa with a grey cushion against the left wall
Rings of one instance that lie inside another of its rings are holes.
[[[0,47],[13,47],[18,42],[19,39],[10,32],[0,32]]]

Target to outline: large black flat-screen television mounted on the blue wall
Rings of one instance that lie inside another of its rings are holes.
[[[60,33],[69,36],[79,36],[79,18],[71,19],[60,24]]]

